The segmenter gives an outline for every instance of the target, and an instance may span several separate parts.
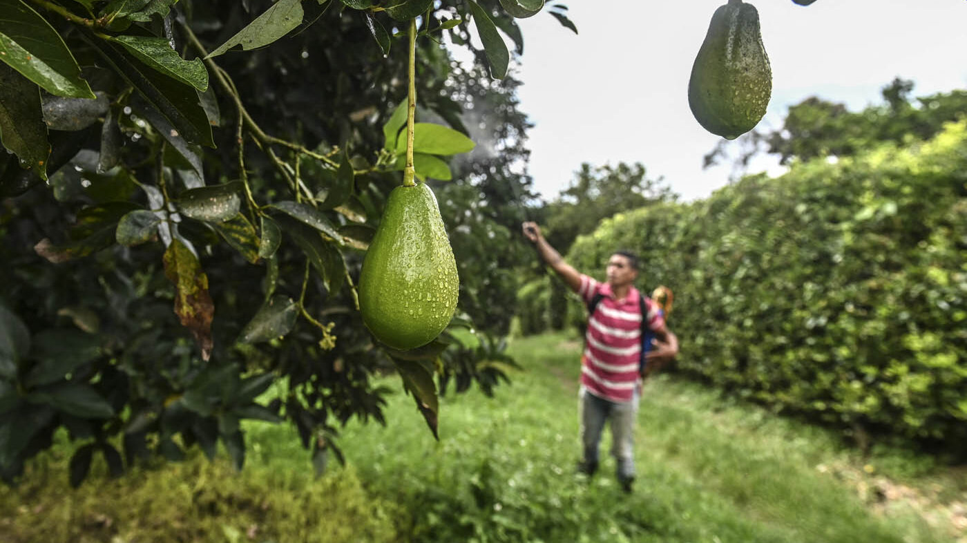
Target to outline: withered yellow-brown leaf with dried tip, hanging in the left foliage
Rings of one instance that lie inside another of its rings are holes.
[[[201,357],[212,354],[212,318],[215,304],[208,293],[208,277],[190,249],[174,239],[164,252],[164,275],[175,286],[175,315],[194,336]]]

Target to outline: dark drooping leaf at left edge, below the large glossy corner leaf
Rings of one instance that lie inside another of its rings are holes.
[[[20,159],[21,166],[47,178],[50,143],[40,89],[5,64],[0,64],[0,141]]]

